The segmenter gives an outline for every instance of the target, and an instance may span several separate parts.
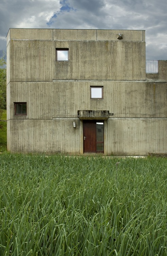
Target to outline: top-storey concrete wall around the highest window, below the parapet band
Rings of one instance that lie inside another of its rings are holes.
[[[145,42],[11,40],[8,48],[10,81],[146,80]],[[69,48],[69,60],[56,61],[55,48]]]

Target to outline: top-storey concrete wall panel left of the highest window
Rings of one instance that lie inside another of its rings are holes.
[[[11,40],[10,81],[52,81],[55,62],[53,41]]]

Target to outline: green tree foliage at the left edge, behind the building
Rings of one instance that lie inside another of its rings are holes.
[[[6,109],[6,61],[0,58],[0,116],[3,109]]]

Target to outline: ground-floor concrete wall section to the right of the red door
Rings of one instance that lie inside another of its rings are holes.
[[[106,155],[167,152],[167,118],[108,118],[104,121],[104,129],[107,134],[104,143]]]

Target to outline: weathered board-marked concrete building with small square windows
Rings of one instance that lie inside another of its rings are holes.
[[[144,30],[10,29],[8,150],[167,152],[167,61],[146,73],[145,49]]]

